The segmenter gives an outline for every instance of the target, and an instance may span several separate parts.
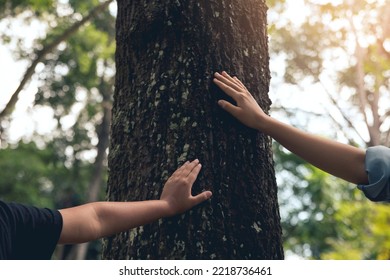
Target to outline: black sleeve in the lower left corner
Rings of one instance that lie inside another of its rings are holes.
[[[62,230],[57,210],[0,201],[3,259],[51,259]],[[4,246],[4,248],[3,248]]]

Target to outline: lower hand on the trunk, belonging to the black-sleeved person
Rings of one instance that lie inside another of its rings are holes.
[[[169,216],[183,213],[211,197],[210,191],[204,191],[196,196],[191,194],[192,185],[201,168],[199,160],[187,161],[165,183],[160,200],[168,203]]]

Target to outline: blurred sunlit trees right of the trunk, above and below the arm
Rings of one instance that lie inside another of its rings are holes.
[[[390,2],[274,2],[274,116],[361,148],[389,146]],[[274,151],[287,256],[389,258],[388,205]]]

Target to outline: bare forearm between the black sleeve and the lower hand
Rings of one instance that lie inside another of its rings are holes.
[[[93,202],[60,210],[59,243],[82,243],[110,236],[169,216],[165,201]]]

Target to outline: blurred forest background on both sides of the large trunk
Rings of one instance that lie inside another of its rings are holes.
[[[271,115],[389,146],[390,1],[267,3]],[[105,198],[115,14],[114,1],[0,0],[1,199],[62,208]],[[390,259],[388,204],[277,143],[274,159],[287,259]],[[100,250],[59,247],[56,258]]]

